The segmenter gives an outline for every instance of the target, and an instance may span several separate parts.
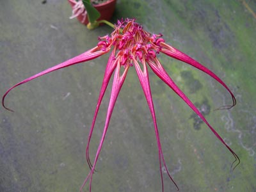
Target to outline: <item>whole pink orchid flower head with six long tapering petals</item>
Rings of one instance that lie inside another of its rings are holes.
[[[211,129],[211,131],[215,134],[215,136],[218,138],[218,140],[227,147],[227,149],[232,153],[232,155],[235,157],[235,161],[232,163],[231,168],[233,167],[234,163],[238,161],[238,163],[234,166],[236,166],[240,163],[239,157],[237,154],[228,147],[227,143],[221,138],[221,136],[216,132],[213,127],[207,122],[205,117],[202,115],[202,113],[195,107],[195,105],[191,102],[191,100],[188,99],[188,97],[180,90],[180,88],[177,86],[177,84],[174,83],[172,78],[168,75],[166,70],[164,70],[163,65],[161,65],[160,61],[157,59],[157,55],[160,53],[166,54],[167,56],[170,56],[172,58],[175,58],[180,61],[184,61],[188,63],[189,65],[192,65],[195,68],[198,68],[199,70],[202,70],[212,78],[216,79],[231,95],[232,97],[232,104],[230,106],[225,106],[225,109],[232,108],[236,104],[236,99],[234,97],[234,94],[230,91],[228,86],[218,77],[216,74],[211,72],[208,68],[204,67],[198,61],[193,60],[193,58],[189,57],[188,55],[184,54],[183,52],[179,51],[178,49],[175,49],[171,45],[168,45],[164,42],[164,39],[162,38],[162,35],[152,35],[145,31],[140,24],[136,23],[134,19],[126,19],[126,20],[119,20],[118,23],[115,25],[115,29],[111,35],[106,35],[99,37],[99,43],[96,47],[93,49],[90,49],[89,51],[84,52],[83,54],[80,54],[70,60],[64,61],[63,63],[60,63],[54,67],[48,68],[38,74],[35,74],[35,76],[31,76],[28,79],[24,79],[24,81],[21,81],[18,84],[15,84],[12,86],[7,92],[3,95],[2,104],[4,108],[12,111],[11,109],[7,108],[4,105],[4,98],[6,95],[16,86],[19,86],[20,84],[27,83],[28,81],[31,81],[37,77],[43,76],[49,72],[52,72],[54,70],[58,70],[60,68],[68,67],[70,65],[75,65],[77,63],[81,63],[84,61],[90,61],[95,58],[98,58],[99,56],[102,56],[103,54],[106,54],[110,52],[110,56],[108,59],[108,63],[106,65],[105,74],[102,81],[102,86],[100,88],[99,93],[99,99],[97,101],[97,106],[94,112],[93,120],[92,120],[92,126],[90,128],[90,132],[88,135],[88,143],[86,146],[86,160],[88,162],[88,165],[90,166],[90,172],[88,173],[86,179],[84,180],[83,185],[81,186],[80,191],[82,191],[84,185],[88,180],[90,180],[90,191],[92,190],[92,175],[93,172],[95,172],[95,166],[97,164],[100,150],[102,148],[102,145],[104,143],[104,138],[106,136],[106,132],[108,131],[109,127],[109,121],[111,119],[111,115],[113,113],[113,109],[115,106],[116,99],[118,97],[118,93],[120,92],[122,85],[124,83],[125,77],[127,76],[127,72],[130,67],[135,67],[136,73],[138,75],[138,79],[141,84],[141,88],[144,92],[145,98],[147,100],[148,108],[150,109],[150,113],[152,115],[152,120],[154,122],[154,129],[156,132],[156,140],[157,140],[157,147],[158,147],[158,157],[159,157],[159,170],[161,175],[161,186],[162,191],[164,191],[164,184],[163,184],[163,171],[162,171],[162,165],[166,169],[166,173],[168,174],[168,177],[170,180],[172,180],[173,184],[175,184],[177,190],[179,190],[177,184],[173,180],[172,176],[170,175],[170,172],[167,168],[166,162],[164,161],[163,151],[161,147],[161,141],[159,137],[159,131],[157,128],[157,120],[156,120],[156,114],[154,109],[154,103],[152,100],[152,94],[150,90],[150,83],[148,79],[148,66],[152,69],[152,71],[164,82],[166,83],[172,90],[179,95],[179,97],[188,104],[188,106],[195,111],[196,115],[198,115],[204,122],[207,124],[207,126]],[[123,67],[124,70],[120,70],[120,68]],[[115,72],[114,72],[115,71]],[[106,121],[104,125],[104,130],[102,133],[102,138],[100,139],[99,147],[97,149],[97,152],[95,154],[95,159],[93,163],[90,161],[89,156],[89,147],[90,147],[90,140],[92,138],[92,133],[95,125],[95,121],[97,118],[97,114],[100,108],[100,104],[102,102],[102,98],[104,97],[104,93],[106,92],[106,88],[109,84],[109,79],[111,78],[112,74],[114,73],[114,79],[113,79],[113,85],[111,90],[111,95],[109,99],[109,106],[108,111],[106,114]],[[233,169],[234,169],[233,168]]]

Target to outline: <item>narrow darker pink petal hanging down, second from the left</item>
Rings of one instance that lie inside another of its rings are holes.
[[[93,132],[96,118],[97,118],[97,114],[99,112],[102,98],[104,97],[104,93],[106,92],[106,88],[108,86],[109,79],[110,79],[111,75],[113,74],[114,69],[116,68],[117,60],[115,60],[115,51],[116,51],[116,49],[114,48],[109,56],[108,64],[106,66],[105,74],[104,74],[103,81],[102,81],[102,86],[100,88],[99,99],[98,99],[97,106],[96,106],[96,109],[95,109],[95,112],[93,115],[92,126],[90,128],[90,133],[88,135],[88,142],[86,145],[86,160],[87,160],[87,163],[90,166],[90,168],[92,168],[92,163],[91,163],[90,157],[89,157],[90,140],[92,138],[92,132]]]

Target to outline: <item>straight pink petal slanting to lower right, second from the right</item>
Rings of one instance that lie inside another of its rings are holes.
[[[205,119],[204,115],[202,115],[202,113],[195,107],[195,105],[191,102],[191,100],[188,99],[188,97],[180,90],[180,88],[173,82],[173,80],[171,79],[171,77],[167,74],[167,72],[164,70],[163,66],[161,65],[161,63],[159,62],[159,60],[157,60],[157,58],[153,61],[148,61],[148,65],[152,68],[152,70],[154,71],[154,73],[164,81],[164,83],[166,83],[168,86],[170,86],[170,88],[172,88],[172,90],[177,93],[177,95],[179,95],[181,97],[181,99],[184,100],[184,102],[186,102],[186,104],[188,104],[188,106],[193,109],[193,111],[195,111],[195,113],[200,116],[200,118],[205,122],[205,124],[208,125],[208,127],[211,129],[211,131],[215,134],[215,136],[221,141],[221,143],[223,143],[225,145],[225,147],[228,148],[228,150],[233,154],[233,156],[235,157],[235,161],[232,163],[233,164],[238,161],[238,163],[236,164],[236,166],[240,163],[240,159],[237,156],[237,154],[230,148],[228,147],[227,143],[225,143],[225,141],[221,138],[220,134],[218,134],[218,132],[216,132],[212,126],[207,122],[207,120]],[[232,168],[231,166],[231,168]],[[234,168],[236,168],[236,166],[234,166]],[[233,168],[233,170],[234,170]]]

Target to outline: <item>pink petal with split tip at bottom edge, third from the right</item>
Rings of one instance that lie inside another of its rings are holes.
[[[164,161],[164,156],[163,156],[162,147],[161,147],[161,141],[160,141],[159,132],[158,132],[157,123],[156,123],[156,114],[155,114],[154,104],[153,104],[152,95],[151,95],[151,91],[150,91],[150,83],[149,83],[149,79],[148,79],[147,65],[145,63],[145,60],[142,60],[142,64],[143,64],[143,71],[142,71],[139,63],[135,60],[135,58],[133,58],[133,61],[134,61],[134,67],[136,68],[136,72],[137,72],[139,80],[140,80],[141,87],[143,89],[144,95],[148,102],[148,108],[150,109],[150,113],[152,115],[152,119],[154,122],[157,147],[158,147],[159,170],[160,170],[160,174],[161,174],[162,191],[164,191],[164,184],[163,184],[163,172],[162,172],[162,165],[161,165],[162,161],[161,160],[163,160],[164,168],[166,169],[168,176],[170,177],[172,182],[175,184],[177,190],[179,191],[179,188],[178,188],[177,184],[175,183],[175,181],[172,179],[172,177],[168,171],[168,168],[166,166],[166,163]]]

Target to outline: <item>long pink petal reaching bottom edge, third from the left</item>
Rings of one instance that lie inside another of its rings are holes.
[[[119,58],[117,58],[116,60],[118,60],[118,59]],[[110,96],[110,99],[109,99],[108,112],[107,112],[107,116],[106,116],[106,122],[105,122],[104,130],[103,130],[103,133],[102,133],[102,138],[100,140],[99,147],[98,147],[97,153],[95,155],[95,159],[94,159],[94,162],[93,162],[92,169],[91,169],[90,173],[87,175],[86,179],[84,180],[83,185],[80,188],[80,191],[82,191],[82,189],[83,189],[84,185],[86,184],[87,180],[89,179],[89,177],[90,177],[90,191],[92,190],[92,173],[95,170],[95,166],[96,166],[96,163],[97,163],[98,158],[99,158],[100,150],[102,148],[102,145],[103,145],[103,142],[104,142],[104,139],[105,139],[105,136],[106,136],[106,132],[108,131],[108,125],[109,125],[111,115],[113,113],[115,102],[116,102],[116,99],[118,97],[118,93],[120,92],[120,90],[122,88],[122,85],[124,84],[124,80],[125,80],[125,77],[127,75],[128,69],[129,69],[129,65],[126,65],[122,76],[120,76],[120,62],[118,61],[117,65],[116,65],[115,76],[114,76],[114,79],[113,79],[113,86],[112,86],[111,96]]]

